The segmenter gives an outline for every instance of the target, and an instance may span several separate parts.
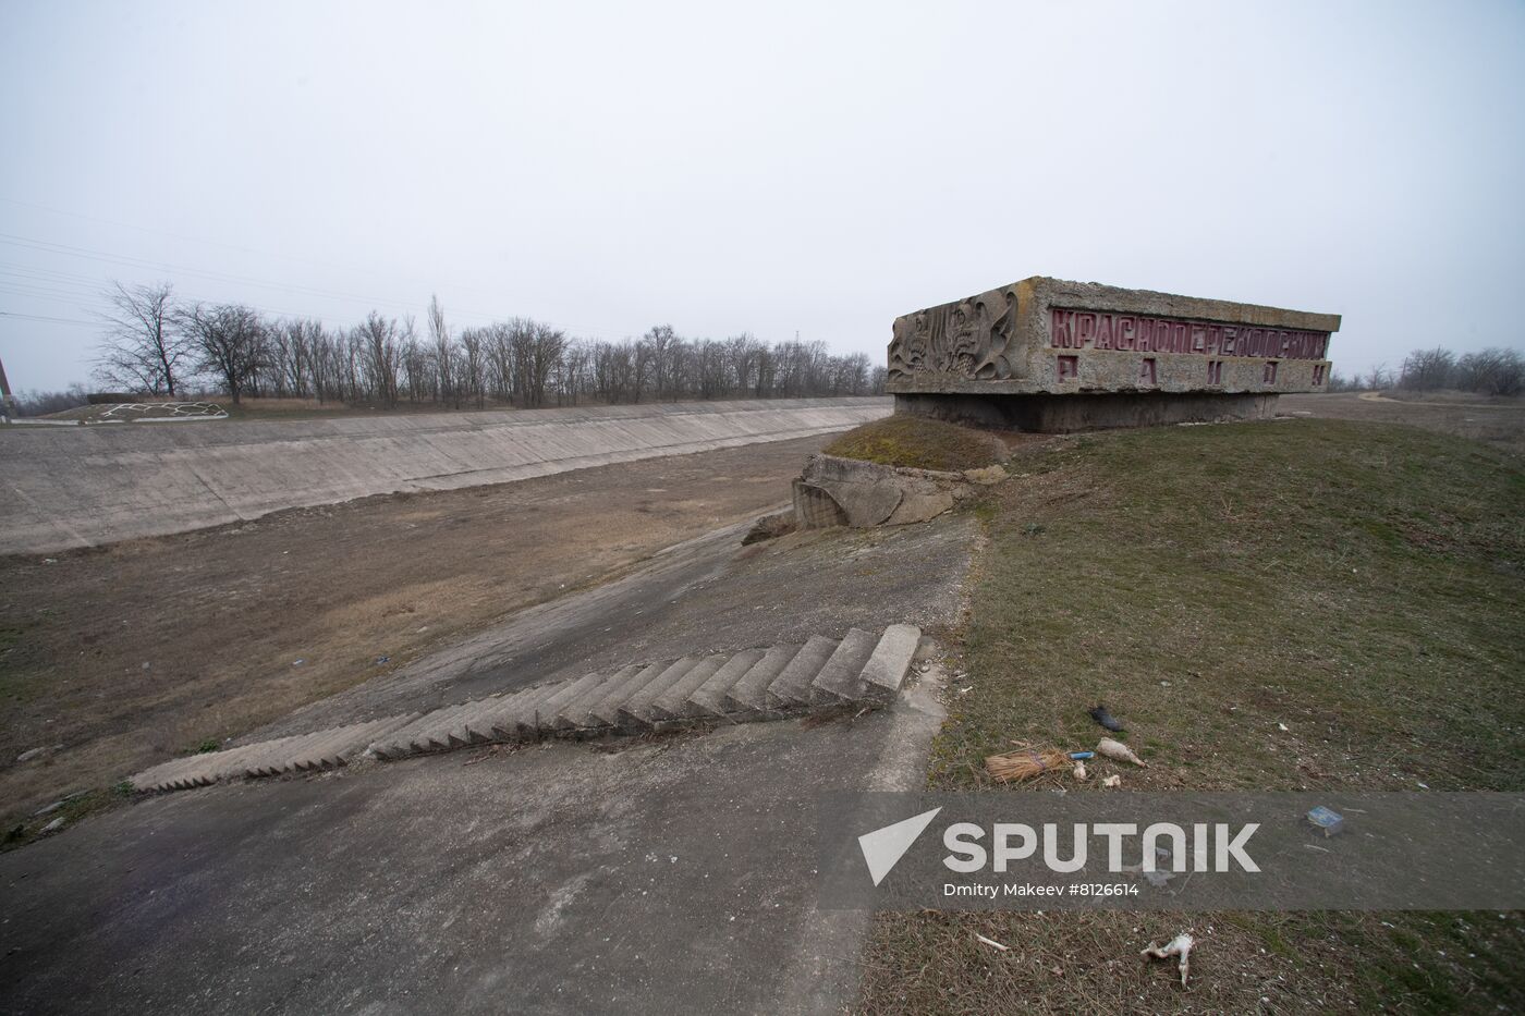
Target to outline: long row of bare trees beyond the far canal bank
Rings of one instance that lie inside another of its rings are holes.
[[[108,294],[95,378],[146,395],[214,384],[250,397],[448,407],[566,406],[689,398],[871,395],[884,369],[822,342],[685,339],[657,325],[640,339],[586,340],[512,317],[451,330],[435,297],[419,333],[372,311],[351,328],[273,319],[239,304],[180,302],[168,282]]]

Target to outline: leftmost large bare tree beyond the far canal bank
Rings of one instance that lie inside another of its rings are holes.
[[[111,310],[101,314],[105,337],[93,371],[96,380],[174,398],[192,349],[174,326],[172,287],[159,282],[127,288],[113,282],[105,297]]]

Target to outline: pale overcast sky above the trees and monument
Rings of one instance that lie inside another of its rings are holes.
[[[1052,275],[1525,345],[1522,3],[0,0],[0,358],[99,291],[822,339]],[[40,320],[49,319],[49,320]]]

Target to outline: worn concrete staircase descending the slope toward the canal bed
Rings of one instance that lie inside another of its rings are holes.
[[[814,636],[804,645],[630,664],[432,712],[177,758],[131,783],[139,790],[185,790],[239,776],[334,769],[360,755],[393,760],[465,744],[644,734],[877,706],[900,691],[920,641],[920,629],[892,624],[878,636],[852,629],[842,639]]]

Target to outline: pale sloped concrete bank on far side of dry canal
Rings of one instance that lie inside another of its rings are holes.
[[[884,398],[0,430],[0,554],[43,554],[371,494],[846,430]]]

